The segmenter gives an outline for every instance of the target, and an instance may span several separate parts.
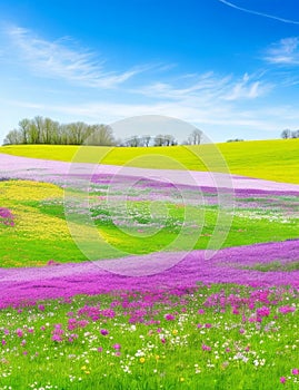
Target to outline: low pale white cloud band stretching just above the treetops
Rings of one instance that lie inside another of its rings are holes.
[[[117,104],[109,101],[89,101],[84,104],[64,104],[46,105],[22,100],[7,100],[7,105],[18,108],[31,108],[32,113],[37,109],[44,115],[53,117],[71,117],[73,120],[87,120],[111,124],[123,118],[142,115],[162,115],[173,118],[180,118],[188,123],[198,124],[202,129],[207,128],[236,128],[241,131],[242,127],[251,130],[279,131],[286,127],[290,120],[298,123],[298,111],[292,107],[271,107],[261,109],[240,109],[231,105],[200,105],[200,101],[193,101],[191,106],[187,101],[177,104],[173,101],[157,101],[155,104]],[[140,129],[142,130],[142,129]],[[155,135],[155,129],[152,129]],[[119,135],[122,136],[122,135]],[[179,136],[179,135],[177,135]],[[183,136],[183,135],[180,135]]]

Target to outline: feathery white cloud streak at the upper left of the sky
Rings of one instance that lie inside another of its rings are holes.
[[[6,33],[21,60],[42,77],[60,78],[87,87],[113,88],[148,66],[137,66],[121,72],[106,71],[103,61],[90,50],[74,49],[69,38],[49,41],[20,27],[6,28]]]

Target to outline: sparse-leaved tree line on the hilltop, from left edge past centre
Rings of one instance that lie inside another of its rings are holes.
[[[24,118],[19,127],[8,133],[4,145],[48,144],[48,145],[99,145],[99,146],[175,146],[176,138],[168,135],[132,136],[126,139],[116,139],[112,128],[108,125],[88,125],[83,121],[60,124],[50,118],[36,116],[33,119]],[[182,145],[199,145],[202,131],[195,129]]]

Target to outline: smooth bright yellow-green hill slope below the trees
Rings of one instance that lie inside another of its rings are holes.
[[[173,147],[84,147],[21,145],[0,153],[71,162],[102,163],[148,168],[213,170],[299,184],[299,139],[256,140]],[[77,155],[77,157],[76,157]],[[219,158],[219,156],[223,156]],[[226,167],[226,164],[227,167]]]

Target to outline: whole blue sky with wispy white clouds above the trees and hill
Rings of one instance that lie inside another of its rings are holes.
[[[299,128],[298,69],[297,0],[0,0],[0,142],[37,115],[279,138]]]

